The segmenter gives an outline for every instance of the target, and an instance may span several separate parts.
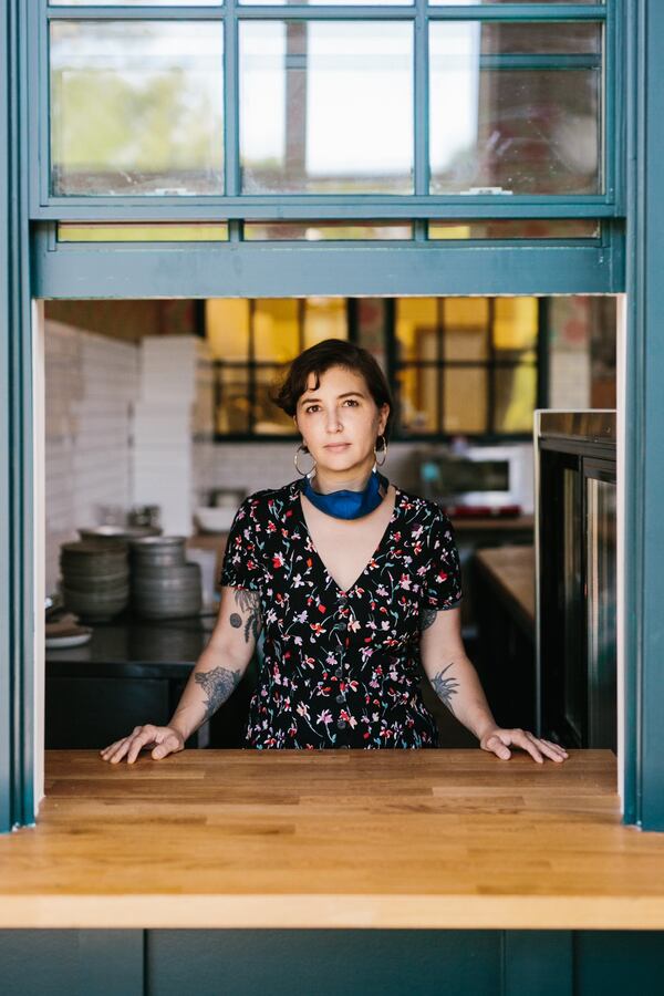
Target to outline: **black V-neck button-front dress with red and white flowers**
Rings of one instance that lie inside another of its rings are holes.
[[[437,747],[419,691],[421,612],[461,598],[452,523],[396,488],[373,557],[342,591],[309,535],[302,483],[256,491],[234,519],[220,583],[260,592],[253,748]]]

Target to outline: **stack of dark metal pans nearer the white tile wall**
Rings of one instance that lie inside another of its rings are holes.
[[[96,540],[63,543],[60,551],[62,596],[66,609],[85,622],[107,622],[129,600],[126,543]]]

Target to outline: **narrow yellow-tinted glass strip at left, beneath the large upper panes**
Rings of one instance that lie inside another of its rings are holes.
[[[207,221],[141,222],[123,221],[120,225],[101,222],[58,222],[59,242],[226,242],[228,225]]]

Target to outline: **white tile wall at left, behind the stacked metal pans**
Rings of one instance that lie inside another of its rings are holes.
[[[138,349],[46,321],[46,592],[60,574],[60,544],[100,521],[101,505],[132,504],[131,406]]]

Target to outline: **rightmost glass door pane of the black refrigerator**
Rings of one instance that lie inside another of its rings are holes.
[[[589,740],[616,750],[616,489],[593,478],[587,489]]]

